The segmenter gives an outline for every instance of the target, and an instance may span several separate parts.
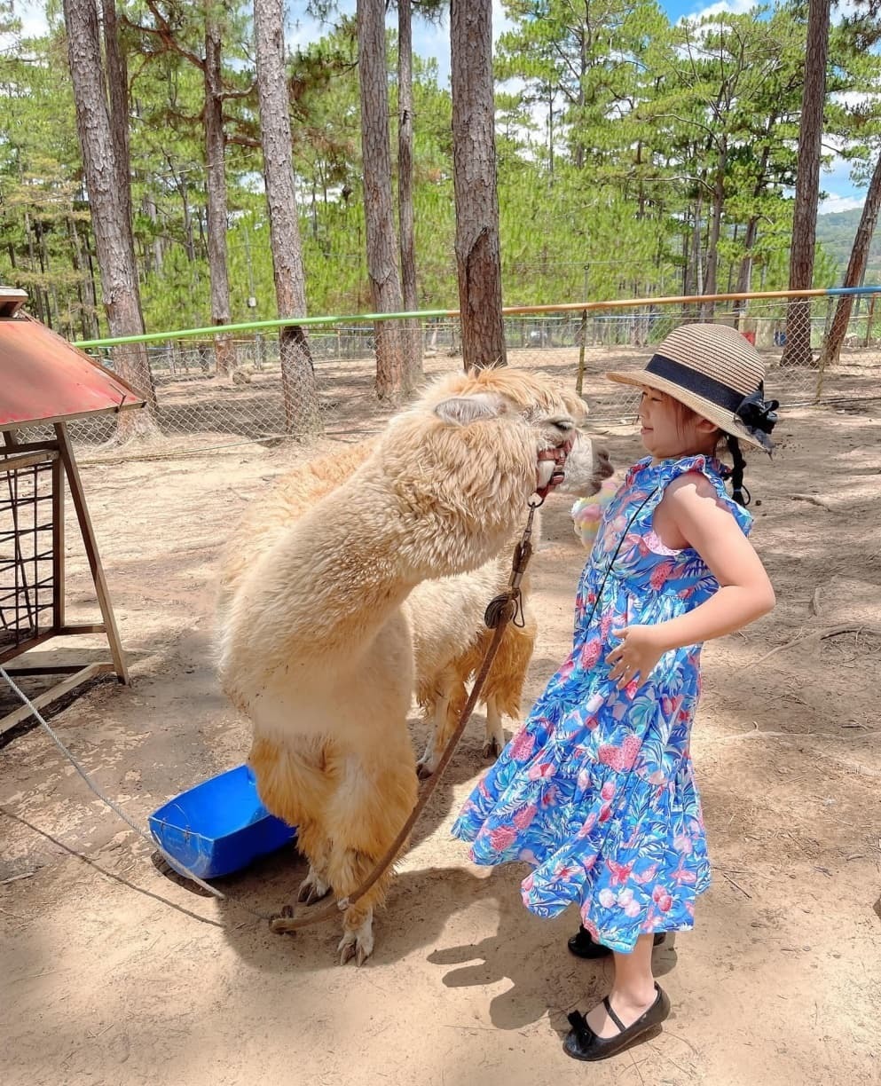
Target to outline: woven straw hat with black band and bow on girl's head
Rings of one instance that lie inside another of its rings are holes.
[[[771,452],[778,403],[765,400],[765,362],[735,328],[682,325],[643,369],[606,377],[666,392],[726,433]]]

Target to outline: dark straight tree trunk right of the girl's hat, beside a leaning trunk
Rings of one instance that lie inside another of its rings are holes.
[[[820,193],[820,144],[829,56],[830,0],[809,0],[805,88],[798,126],[798,163],[792,214],[790,290],[809,290],[814,281],[817,204]],[[786,345],[781,366],[810,365],[810,302],[792,299],[786,307]]]

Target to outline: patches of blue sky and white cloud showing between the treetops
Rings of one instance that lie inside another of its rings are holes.
[[[718,0],[714,3],[701,0],[660,0],[670,18],[681,18],[684,15],[700,16],[720,11],[745,12],[753,7],[753,0]],[[298,12],[305,11],[305,0],[289,0],[287,9],[294,18],[288,27],[290,45],[306,43],[322,34],[322,27],[304,15],[297,17]],[[341,11],[354,12],[355,0],[340,0]],[[506,26],[501,0],[493,0],[493,38],[498,38]],[[38,0],[15,0],[15,9],[24,22],[25,34],[40,34],[46,27],[43,4]],[[394,15],[390,16],[393,24]],[[446,86],[450,78],[450,28],[446,20],[440,26],[431,26],[416,21],[413,27],[414,51],[421,56],[433,56],[438,61],[441,85]],[[835,157],[831,168],[821,174],[820,186],[827,193],[820,205],[820,213],[848,211],[861,207],[865,190],[857,188],[849,178],[849,167],[840,157]]]

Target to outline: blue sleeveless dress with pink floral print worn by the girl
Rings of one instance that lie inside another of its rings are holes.
[[[625,954],[642,934],[690,930],[709,885],[689,749],[701,646],[665,653],[621,691],[605,657],[613,630],[675,618],[718,589],[696,551],[664,546],[652,516],[671,480],[700,471],[748,532],[722,470],[690,456],[628,471],[581,574],[572,652],[453,826],[476,863],[532,866],[521,891],[537,915],[578,901],[593,938]]]

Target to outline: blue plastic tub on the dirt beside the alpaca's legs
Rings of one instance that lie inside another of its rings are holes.
[[[191,871],[200,879],[239,871],[297,835],[260,801],[248,766],[237,766],[181,792],[153,811],[149,824],[156,844],[173,857],[172,867],[183,875]]]

